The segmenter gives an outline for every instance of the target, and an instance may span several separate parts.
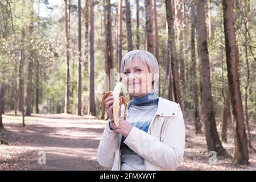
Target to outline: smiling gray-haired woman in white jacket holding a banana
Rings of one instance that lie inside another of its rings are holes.
[[[121,171],[177,168],[185,147],[183,114],[179,104],[156,96],[158,61],[150,52],[130,51],[121,61],[120,72],[132,100],[127,104],[126,120],[120,117],[121,106],[117,127],[113,96],[105,99],[109,119],[98,146],[98,163]]]

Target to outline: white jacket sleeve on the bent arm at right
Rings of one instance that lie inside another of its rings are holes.
[[[169,117],[163,131],[163,142],[139,130],[131,129],[124,143],[148,162],[165,169],[175,169],[183,160],[185,125],[180,106],[176,117]]]

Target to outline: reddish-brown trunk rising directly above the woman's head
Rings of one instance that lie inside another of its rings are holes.
[[[152,34],[152,5],[151,0],[145,0],[146,11],[146,49],[154,53],[153,34]]]

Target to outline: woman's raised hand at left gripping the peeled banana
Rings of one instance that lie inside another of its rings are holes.
[[[112,93],[110,93],[109,96],[105,98],[105,110],[106,110],[106,113],[108,113],[109,115],[109,126],[112,129],[114,128],[113,102],[114,102],[114,97]],[[121,115],[121,104],[122,104],[122,99],[120,100],[119,117]]]

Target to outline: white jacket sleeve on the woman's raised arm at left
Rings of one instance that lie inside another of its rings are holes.
[[[105,168],[113,166],[115,150],[118,147],[118,134],[109,128],[109,120],[101,137],[97,150],[97,161]]]

